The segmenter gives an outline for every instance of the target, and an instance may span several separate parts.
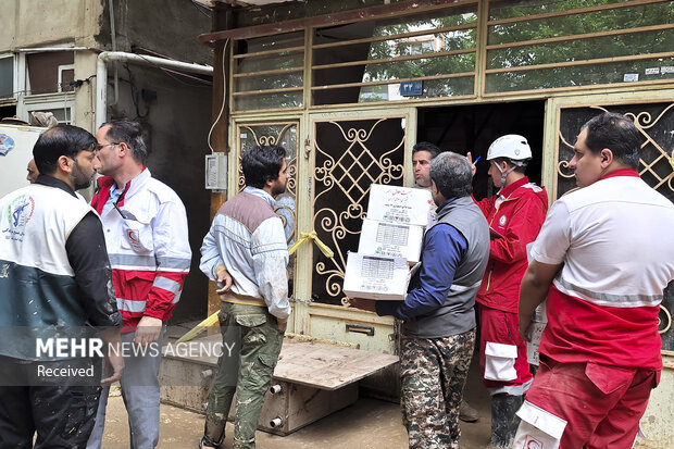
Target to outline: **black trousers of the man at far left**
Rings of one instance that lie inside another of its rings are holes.
[[[36,432],[35,449],[86,448],[100,398],[98,382],[72,376],[35,382],[34,374],[38,364],[59,367],[89,363],[24,362],[0,357],[0,373],[8,375],[0,376],[0,449],[33,448]],[[27,385],[3,382],[15,381],[21,373]]]

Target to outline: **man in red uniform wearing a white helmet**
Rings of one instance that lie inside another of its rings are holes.
[[[524,172],[532,159],[526,138],[509,134],[487,151],[489,176],[499,189],[482,201],[491,240],[489,262],[477,292],[480,322],[480,370],[491,395],[491,445],[504,448],[517,429],[515,412],[532,384],[526,344],[519,334],[520,283],[527,267],[526,245],[534,241],[546,219],[546,190],[529,183]]]

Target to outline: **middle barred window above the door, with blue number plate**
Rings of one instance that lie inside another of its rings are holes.
[[[472,96],[476,48],[476,2],[315,28],[313,104]]]

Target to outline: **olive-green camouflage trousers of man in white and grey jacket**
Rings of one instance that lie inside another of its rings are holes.
[[[236,392],[234,448],[255,447],[255,429],[270,387],[284,334],[266,308],[223,302],[220,310],[223,346],[217,360],[207,408],[204,444],[219,447],[225,437],[225,424]]]

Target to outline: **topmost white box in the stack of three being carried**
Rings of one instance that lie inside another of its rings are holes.
[[[433,196],[428,189],[373,184],[370,187],[367,219],[426,226],[428,211],[433,205]]]

